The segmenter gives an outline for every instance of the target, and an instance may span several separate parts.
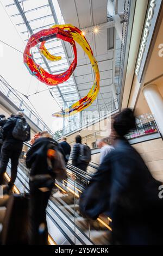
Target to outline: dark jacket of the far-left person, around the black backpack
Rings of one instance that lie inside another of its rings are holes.
[[[20,117],[20,116],[14,116],[12,118],[9,118],[7,120],[7,122],[5,123],[5,125],[3,126],[3,138],[4,138],[4,142],[14,142],[14,143],[18,143],[18,144],[23,144],[22,141],[19,141],[18,139],[15,139],[12,136],[12,131],[14,129],[14,126],[16,124],[17,119],[22,119],[23,121],[26,121],[25,118]],[[27,141],[29,141],[30,139],[30,132],[29,132],[29,136],[27,138]]]

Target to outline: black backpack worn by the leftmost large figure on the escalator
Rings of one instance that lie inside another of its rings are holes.
[[[18,141],[27,141],[29,138],[30,126],[25,119],[18,118],[12,131],[12,136]]]

